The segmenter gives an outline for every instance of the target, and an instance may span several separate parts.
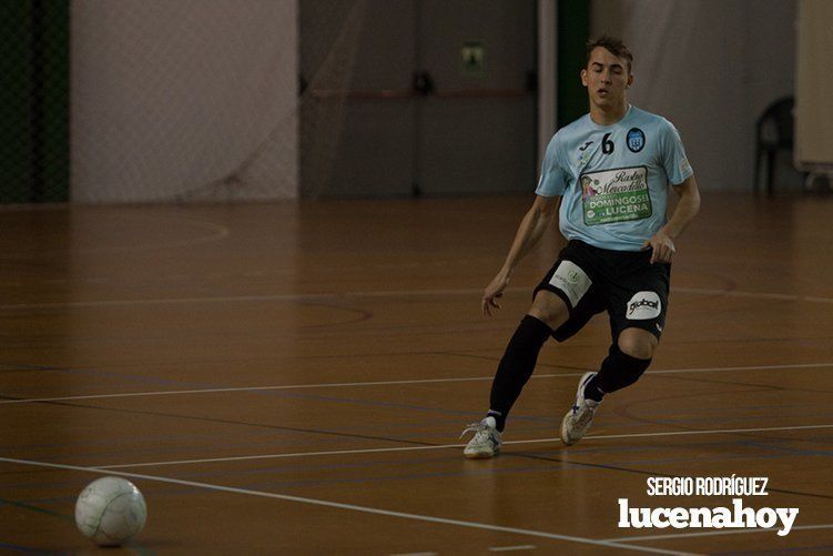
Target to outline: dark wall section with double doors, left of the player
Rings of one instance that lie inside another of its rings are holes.
[[[327,110],[343,118],[341,127],[332,122],[338,140],[328,138],[332,171],[322,178],[319,166],[327,163],[323,155],[302,160],[302,194],[531,191],[538,171],[536,2],[369,0],[364,4],[353,71],[343,89],[349,94],[323,100],[315,89],[326,89],[336,80],[318,73],[334,71],[319,70],[326,58],[322,44],[335,43],[322,34],[329,28],[327,8],[338,8],[324,0],[301,0],[301,72],[309,84],[302,95],[302,149],[324,140],[316,135],[326,128],[309,124],[315,118]],[[329,34],[344,32],[333,28]],[[342,50],[348,48],[341,44]],[[467,63],[464,51],[475,52],[475,59]],[[419,91],[415,75],[420,77]],[[334,108],[338,102],[341,113]]]

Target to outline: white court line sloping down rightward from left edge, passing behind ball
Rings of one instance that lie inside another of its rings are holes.
[[[580,544],[595,545],[595,546],[606,546],[609,548],[621,548],[626,550],[640,550],[640,552],[649,552],[649,553],[656,553],[656,554],[677,554],[677,555],[691,554],[691,553],[663,550],[659,548],[649,548],[644,546],[630,545],[630,544],[624,544],[624,543],[617,543],[614,540],[595,540],[592,538],[576,537],[571,535],[559,535],[558,533],[546,533],[542,530],[520,529],[516,527],[504,527],[501,525],[491,525],[488,523],[464,522],[460,519],[446,519],[444,517],[434,517],[434,516],[421,515],[421,514],[408,514],[405,512],[393,512],[388,509],[379,509],[379,508],[373,508],[368,506],[342,504],[338,502],[321,501],[317,498],[305,498],[302,496],[291,496],[288,494],[276,494],[276,493],[267,493],[263,491],[251,491],[247,488],[235,488],[232,486],[212,485],[210,483],[197,483],[194,481],[160,477],[156,475],[112,472],[109,469],[104,469],[103,467],[80,467],[75,465],[35,462],[31,459],[17,459],[12,457],[0,457],[0,462],[7,462],[7,463],[20,464],[20,465],[32,465],[37,467],[49,467],[53,469],[80,471],[80,472],[85,472],[85,473],[106,473],[106,474],[120,475],[122,477],[129,477],[129,478],[135,478],[135,479],[155,481],[159,483],[170,483],[174,485],[192,486],[195,488],[205,488],[207,491],[219,491],[219,492],[233,493],[233,494],[245,494],[250,496],[260,496],[263,498],[275,498],[275,499],[287,501],[287,502],[299,502],[302,504],[312,504],[315,506],[325,506],[325,507],[333,507],[333,508],[339,508],[339,509],[351,509],[353,512],[363,512],[366,514],[384,515],[388,517],[400,517],[404,519],[412,519],[412,520],[417,520],[417,522],[438,523],[441,525],[456,525],[458,527],[469,527],[469,528],[475,528],[475,529],[497,530],[501,533],[511,533],[515,535],[527,535],[531,537],[549,538],[553,540],[567,540],[570,543],[580,543]]]

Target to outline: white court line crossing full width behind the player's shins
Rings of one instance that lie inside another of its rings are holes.
[[[723,371],[773,371],[779,368],[817,368],[830,367],[833,363],[803,363],[791,365],[749,365],[735,367],[692,367],[692,368],[666,368],[657,371],[647,371],[646,374],[674,374],[674,373],[719,373]],[[550,373],[532,375],[532,378],[558,378],[582,376],[582,373]],[[286,384],[276,386],[237,386],[226,388],[195,388],[195,390],[161,390],[151,392],[123,392],[121,394],[87,394],[80,396],[61,396],[61,397],[26,397],[21,400],[0,400],[0,405],[9,404],[28,404],[38,402],[71,402],[78,400],[106,400],[113,397],[143,397],[143,396],[172,396],[186,394],[219,394],[232,392],[268,392],[280,390],[303,390],[303,388],[337,388],[352,386],[393,386],[400,384],[431,384],[447,382],[471,382],[471,381],[491,381],[494,376],[469,376],[459,378],[414,378],[403,381],[368,381],[368,382],[339,382],[339,383],[319,383],[319,384]]]

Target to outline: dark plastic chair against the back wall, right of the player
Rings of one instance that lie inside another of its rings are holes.
[[[766,194],[772,194],[775,161],[781,150],[793,150],[793,107],[795,99],[785,97],[770,104],[755,122],[755,193],[761,178],[761,155],[766,154]]]

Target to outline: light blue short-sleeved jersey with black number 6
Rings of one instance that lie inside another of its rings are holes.
[[[562,195],[561,233],[601,249],[639,251],[668,221],[669,183],[693,174],[677,129],[629,107],[612,125],[585,114],[547,146],[536,193]]]

